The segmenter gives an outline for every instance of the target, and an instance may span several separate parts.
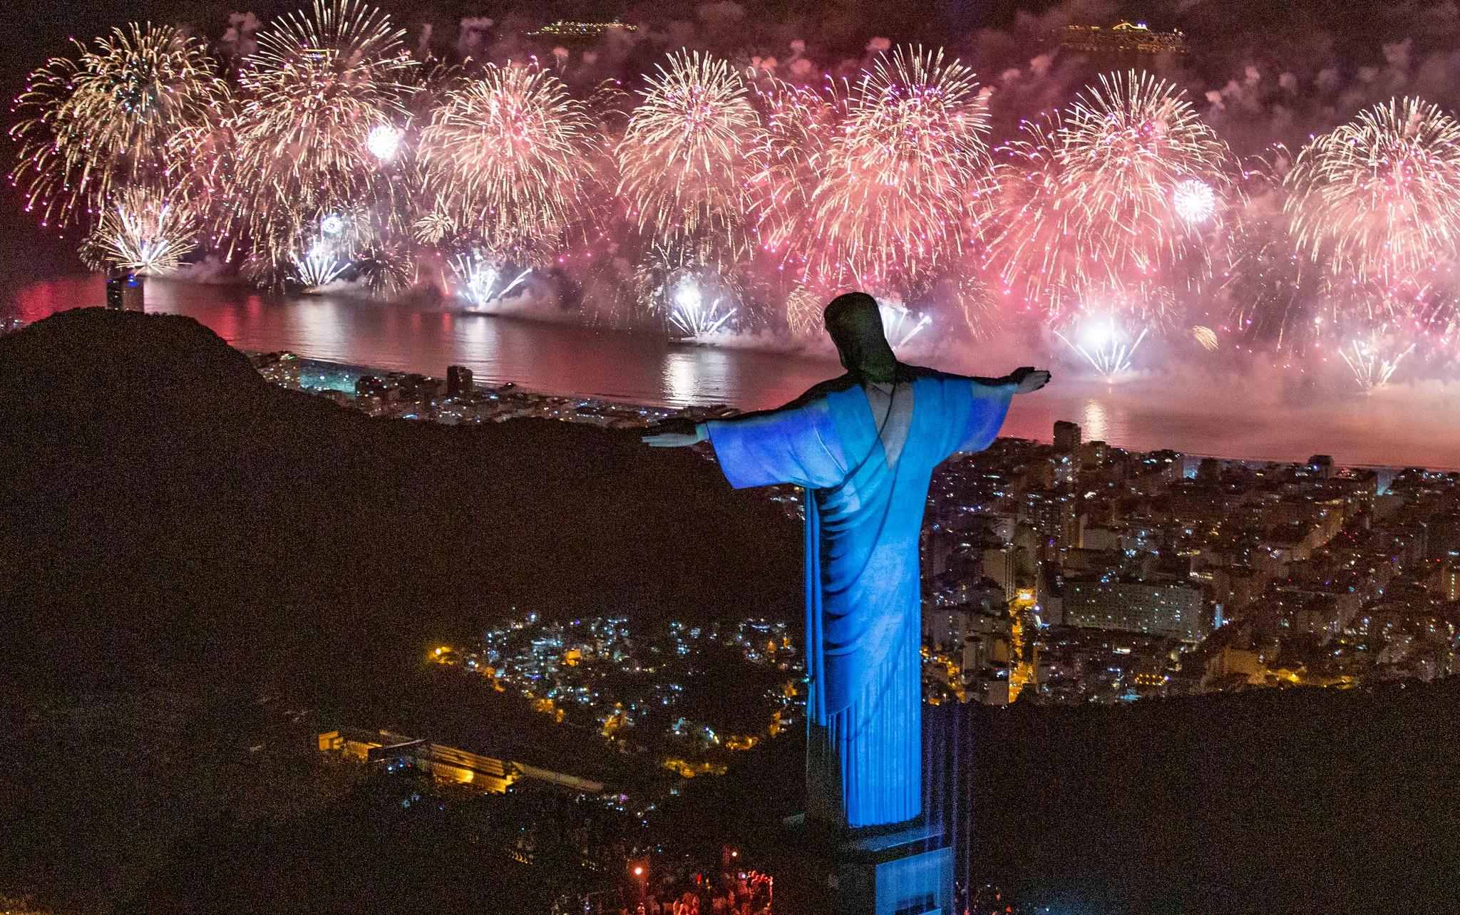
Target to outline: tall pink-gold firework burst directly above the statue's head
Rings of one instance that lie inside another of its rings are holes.
[[[896,287],[959,255],[988,181],[988,111],[974,72],[943,51],[895,48],[848,86],[816,156],[803,273]]]

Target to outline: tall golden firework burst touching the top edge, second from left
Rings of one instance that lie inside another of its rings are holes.
[[[250,258],[269,273],[298,261],[323,215],[366,207],[394,217],[391,172],[371,149],[406,118],[416,63],[390,18],[358,0],[315,0],[258,34],[239,73],[234,185]],[[355,220],[366,228],[366,220]],[[374,235],[381,226],[371,229]]]

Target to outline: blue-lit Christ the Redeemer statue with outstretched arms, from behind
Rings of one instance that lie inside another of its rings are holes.
[[[933,468],[987,448],[1009,398],[1050,374],[968,378],[904,365],[860,292],[835,298],[825,320],[847,374],[778,410],[644,441],[708,438],[736,489],[806,489],[807,816],[861,829],[921,813],[918,533]]]

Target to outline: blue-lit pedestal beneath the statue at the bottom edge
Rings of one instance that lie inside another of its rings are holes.
[[[797,816],[774,858],[775,915],[953,912],[953,849],[927,823],[832,833]]]

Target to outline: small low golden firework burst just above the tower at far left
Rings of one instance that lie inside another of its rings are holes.
[[[171,273],[197,248],[200,228],[184,196],[164,197],[131,187],[102,209],[96,228],[82,242],[82,263],[92,270],[121,267],[145,276]]]

